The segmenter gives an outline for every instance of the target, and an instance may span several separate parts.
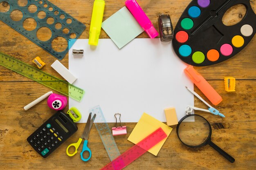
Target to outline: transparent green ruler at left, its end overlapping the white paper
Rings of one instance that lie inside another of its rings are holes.
[[[43,84],[49,88],[52,88],[64,95],[71,97],[77,101],[81,101],[85,91],[81,88],[78,88],[68,82],[63,81],[53,75],[45,73],[38,68],[30,66],[20,60],[17,60],[7,54],[0,52],[0,65],[11,69],[25,77],[28,77],[40,84]]]

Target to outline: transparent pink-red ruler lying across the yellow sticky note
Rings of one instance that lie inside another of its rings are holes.
[[[132,146],[132,148],[126,150],[122,155],[108,163],[108,165],[101,170],[121,170],[125,168],[166,137],[167,135],[164,130],[162,130],[162,128],[158,128],[138,144]]]

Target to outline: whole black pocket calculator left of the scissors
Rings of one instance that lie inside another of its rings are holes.
[[[77,130],[74,121],[63,111],[58,111],[32,133],[27,141],[39,155],[46,158]]]

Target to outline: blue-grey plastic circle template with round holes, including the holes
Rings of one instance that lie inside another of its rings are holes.
[[[27,4],[18,3],[17,0],[1,0],[0,5],[4,10],[0,11],[0,20],[59,60],[66,55],[68,45],[66,48],[64,45],[63,49],[57,49],[53,48],[53,42],[63,45],[66,41],[68,44],[69,39],[79,38],[85,30],[84,24],[47,0],[27,0]],[[26,26],[27,24],[29,26]],[[49,34],[49,37],[40,38],[39,33]]]

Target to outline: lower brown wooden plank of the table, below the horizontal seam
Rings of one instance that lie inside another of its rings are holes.
[[[200,149],[191,149],[183,146],[177,139],[176,129],[173,126],[171,135],[166,140],[157,157],[146,153],[126,169],[254,169],[255,168],[255,104],[256,82],[254,80],[238,80],[235,93],[228,93],[220,81],[209,81],[223,96],[223,102],[216,108],[226,115],[224,119],[208,113],[196,112],[209,120],[212,129],[212,141],[232,155],[236,162],[231,164],[221,157],[210,146]],[[222,82],[223,85],[223,82]],[[95,128],[89,135],[89,146],[93,156],[88,163],[84,163],[77,154],[68,157],[65,148],[76,142],[81,136],[85,124],[78,124],[79,130],[58,148],[54,154],[41,158],[27,143],[26,139],[55,111],[47,107],[46,101],[25,111],[29,101],[36,98],[48,89],[43,85],[27,89],[28,86],[38,86],[36,82],[0,82],[0,164],[6,169],[88,169],[95,170],[109,162],[108,155]],[[197,93],[200,91],[195,88]],[[202,102],[195,99],[195,106],[206,108]],[[67,109],[65,109],[67,111]],[[12,117],[10,119],[10,117]],[[222,127],[222,126],[223,127]],[[109,124],[110,127],[114,124]],[[133,144],[127,137],[134,128],[134,123],[126,123],[127,135],[116,136],[115,141],[120,152],[124,152]],[[80,148],[81,150],[81,148]],[[58,161],[53,161],[53,160]],[[42,167],[41,165],[48,165]]]

